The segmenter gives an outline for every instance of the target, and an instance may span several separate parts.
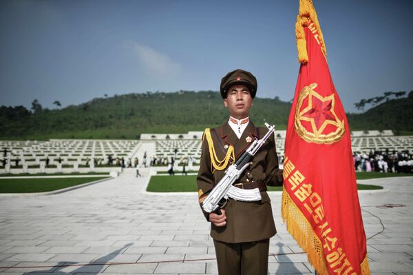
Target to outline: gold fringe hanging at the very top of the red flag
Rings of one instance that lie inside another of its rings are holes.
[[[297,51],[298,62],[306,64],[308,62],[307,55],[307,43],[304,27],[308,26],[309,22],[313,22],[317,34],[319,36],[319,42],[321,44],[321,50],[324,56],[327,56],[326,44],[324,43],[323,33],[321,32],[320,24],[317,18],[317,13],[313,6],[312,0],[299,0],[299,14],[297,16],[297,23],[295,23],[295,37],[297,38]]]

